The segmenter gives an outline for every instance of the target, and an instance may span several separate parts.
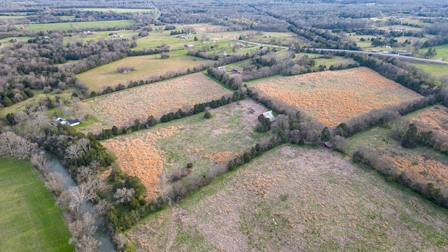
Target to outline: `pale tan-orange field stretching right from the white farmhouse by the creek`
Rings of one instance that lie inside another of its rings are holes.
[[[102,123],[80,129],[98,132],[113,125],[132,125],[135,119],[143,121],[151,115],[160,118],[178,109],[186,111],[185,106],[192,108],[223,95],[231,96],[232,92],[202,73],[134,87],[87,101],[92,115]]]

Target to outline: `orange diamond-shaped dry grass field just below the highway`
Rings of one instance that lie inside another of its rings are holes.
[[[327,126],[422,97],[367,67],[275,76],[254,80],[248,85],[265,96],[303,109]]]

